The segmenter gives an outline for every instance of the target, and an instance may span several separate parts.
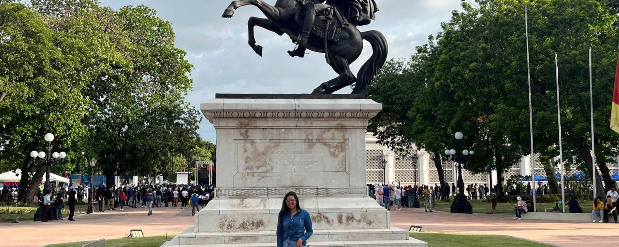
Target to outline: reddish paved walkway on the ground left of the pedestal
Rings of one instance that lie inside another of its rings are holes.
[[[64,216],[64,220],[0,224],[3,229],[0,246],[38,247],[53,243],[122,238],[129,234],[130,229],[142,229],[148,237],[179,233],[193,225],[189,208],[154,207],[152,216],[147,216],[147,212],[148,209],[142,207],[124,207],[124,211],[117,208],[115,211],[76,215],[76,221],[72,222]]]

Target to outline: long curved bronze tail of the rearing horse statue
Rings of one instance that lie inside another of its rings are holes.
[[[357,73],[357,83],[355,83],[355,89],[352,90],[352,93],[363,93],[376,75],[376,70],[381,69],[387,61],[387,39],[383,33],[371,30],[364,31],[361,36],[363,40],[367,40],[372,45],[372,56]]]

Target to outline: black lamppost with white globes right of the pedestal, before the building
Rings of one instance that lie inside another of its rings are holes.
[[[456,132],[454,135],[456,138],[456,149],[446,149],[445,155],[448,156],[448,161],[454,161],[458,164],[458,180],[457,180],[457,193],[454,202],[451,204],[451,212],[458,214],[472,214],[473,206],[470,205],[469,200],[464,195],[464,180],[462,180],[462,163],[466,162],[469,154],[474,154],[474,151],[467,149],[460,150],[460,140],[464,137],[462,132]]]

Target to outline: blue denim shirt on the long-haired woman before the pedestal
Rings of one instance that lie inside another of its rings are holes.
[[[299,238],[303,240],[303,245],[307,245],[305,242],[311,237],[313,230],[311,229],[311,217],[308,211],[300,209],[295,216],[290,219],[290,211],[286,212],[284,222],[277,221],[277,247],[284,246],[284,240],[290,238],[290,240],[298,241]]]

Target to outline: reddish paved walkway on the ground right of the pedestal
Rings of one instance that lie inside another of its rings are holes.
[[[615,246],[619,242],[619,224],[512,220],[513,217],[506,214],[451,214],[405,208],[391,211],[391,224],[405,229],[410,225],[420,225],[424,232],[508,235],[566,247]]]

